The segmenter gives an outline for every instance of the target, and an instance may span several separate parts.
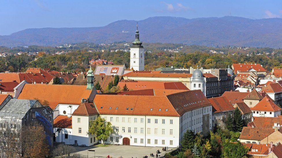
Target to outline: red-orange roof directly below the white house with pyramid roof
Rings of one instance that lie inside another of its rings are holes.
[[[282,117],[253,117],[254,121],[248,123],[248,127],[272,127],[274,123],[282,125]]]

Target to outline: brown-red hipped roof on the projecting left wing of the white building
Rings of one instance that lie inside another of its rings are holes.
[[[79,106],[77,107],[77,109],[75,109],[72,115],[91,116],[97,114],[98,112],[93,103],[84,102],[79,104]]]

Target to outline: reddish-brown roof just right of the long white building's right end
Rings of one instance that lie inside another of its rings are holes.
[[[213,113],[219,113],[235,109],[225,96],[209,98],[208,100],[212,104]]]

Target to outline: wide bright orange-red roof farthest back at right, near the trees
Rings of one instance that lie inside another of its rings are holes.
[[[237,71],[247,72],[252,68],[257,72],[266,71],[261,64],[232,64],[232,66],[234,68],[234,73],[237,73]]]

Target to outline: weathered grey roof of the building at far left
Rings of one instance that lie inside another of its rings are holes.
[[[10,99],[0,110],[0,118],[22,119],[37,100]]]

